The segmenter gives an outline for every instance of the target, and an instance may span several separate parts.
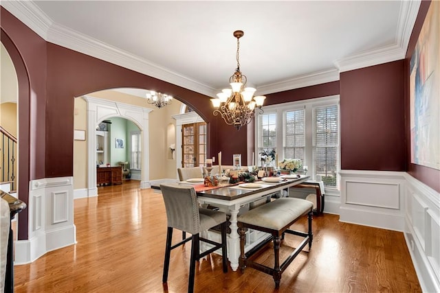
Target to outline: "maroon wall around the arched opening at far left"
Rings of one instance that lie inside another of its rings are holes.
[[[30,180],[44,178],[46,42],[3,7],[1,43],[12,58],[19,82],[19,197],[29,200]],[[28,209],[20,213],[19,239],[28,239]]]

